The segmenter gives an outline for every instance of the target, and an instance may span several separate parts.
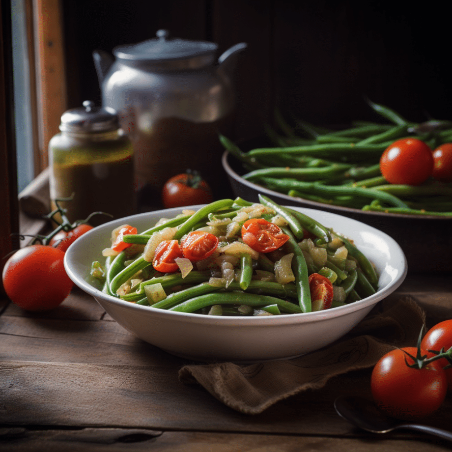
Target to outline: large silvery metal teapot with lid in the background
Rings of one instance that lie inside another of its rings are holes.
[[[231,123],[231,75],[246,47],[237,44],[216,60],[217,44],[162,29],[157,38],[114,48],[115,59],[93,52],[103,106],[116,110],[134,144],[138,187],[160,196],[165,181],[187,168],[220,183],[218,132]]]

